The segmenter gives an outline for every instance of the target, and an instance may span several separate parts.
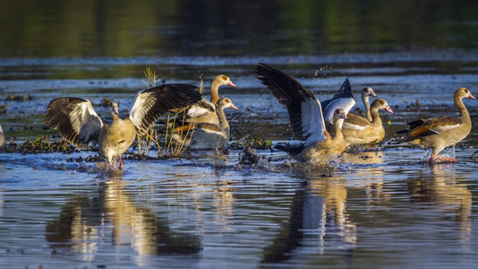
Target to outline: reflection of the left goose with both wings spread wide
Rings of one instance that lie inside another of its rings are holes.
[[[131,247],[141,266],[148,265],[149,255],[201,251],[200,237],[172,230],[170,221],[135,204],[125,184],[123,180],[108,181],[100,185],[98,196],[74,196],[58,218],[47,224],[50,247],[55,251],[66,247],[77,259],[92,261],[98,247],[108,241],[107,231],[111,229],[112,245],[117,249]]]

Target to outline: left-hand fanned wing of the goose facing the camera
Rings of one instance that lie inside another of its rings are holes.
[[[103,126],[90,100],[74,97],[51,100],[43,118],[47,126],[57,129],[66,141],[77,147],[98,142]]]

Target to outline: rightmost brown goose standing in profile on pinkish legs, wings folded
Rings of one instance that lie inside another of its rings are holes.
[[[429,164],[435,161],[457,162],[455,158],[440,157],[440,152],[453,144],[456,144],[470,134],[472,120],[463,103],[464,98],[476,100],[466,88],[458,88],[455,91],[455,105],[460,112],[459,117],[440,116],[429,119],[418,119],[408,123],[406,130],[400,130],[397,134],[406,134],[408,143],[419,145],[424,149],[432,149]]]

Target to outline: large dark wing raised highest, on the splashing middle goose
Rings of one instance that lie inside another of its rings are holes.
[[[254,72],[277,100],[286,106],[295,139],[303,140],[307,145],[325,138],[320,101],[310,91],[292,76],[270,65],[254,65]]]

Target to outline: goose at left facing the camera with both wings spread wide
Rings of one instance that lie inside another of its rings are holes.
[[[112,102],[111,123],[98,117],[90,100],[74,97],[51,100],[43,117],[47,126],[57,129],[64,139],[79,148],[90,142],[98,143],[99,156],[107,160],[110,170],[115,157],[123,169],[121,154],[130,147],[136,134],[145,134],[167,110],[184,108],[199,100],[201,93],[196,86],[163,84],[138,92],[127,117],[118,117],[118,104]]]

